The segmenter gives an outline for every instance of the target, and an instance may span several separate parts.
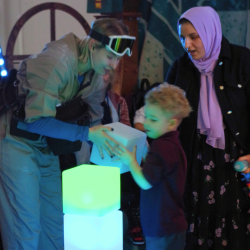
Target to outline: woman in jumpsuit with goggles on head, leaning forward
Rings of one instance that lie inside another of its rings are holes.
[[[12,135],[12,110],[0,117],[0,228],[5,250],[63,249],[61,172],[45,136],[90,140],[101,155],[104,149],[112,156],[113,140],[105,133],[111,128],[88,128],[54,118],[58,105],[81,95],[95,124],[102,118],[100,103],[107,87],[103,76],[115,69],[125,52],[131,55],[132,44],[119,51],[101,42],[103,37],[111,40],[112,35],[128,34],[121,21],[99,19],[91,31],[84,40],[65,35],[20,65],[18,93],[26,98],[25,122],[18,127],[40,137],[28,140]]]

